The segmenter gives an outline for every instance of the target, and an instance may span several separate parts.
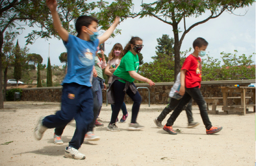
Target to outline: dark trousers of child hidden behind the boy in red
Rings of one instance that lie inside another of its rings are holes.
[[[170,102],[168,103],[168,105],[163,109],[163,111],[161,112],[161,114],[157,117],[157,120],[159,121],[163,121],[164,118],[170,113],[172,112],[172,110],[174,110],[177,105],[180,103],[180,100],[177,100],[175,98],[170,98]],[[189,103],[187,105],[185,105],[182,110],[186,110],[186,114],[188,117],[188,123],[193,122],[193,116],[192,116],[192,99],[189,100]]]

